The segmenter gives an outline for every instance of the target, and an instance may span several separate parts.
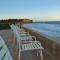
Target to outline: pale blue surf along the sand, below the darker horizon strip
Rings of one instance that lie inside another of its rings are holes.
[[[51,37],[60,38],[60,24],[31,23],[24,25],[24,27]]]

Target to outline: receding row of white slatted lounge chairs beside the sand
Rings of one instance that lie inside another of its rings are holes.
[[[24,29],[19,28],[18,26],[12,24],[11,29],[14,33],[14,36],[16,37],[17,40],[17,47],[19,46],[19,60],[20,60],[20,53],[23,51],[29,51],[29,50],[36,50],[37,55],[40,53],[41,60],[43,60],[42,56],[42,50],[43,47],[41,46],[40,41],[37,41],[34,36],[31,36],[28,32],[25,32]],[[35,41],[33,38],[35,38]]]

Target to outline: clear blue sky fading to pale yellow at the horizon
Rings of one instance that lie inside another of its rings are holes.
[[[0,0],[0,19],[60,20],[60,0]]]

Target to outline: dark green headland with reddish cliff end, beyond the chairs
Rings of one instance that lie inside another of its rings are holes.
[[[32,20],[30,19],[7,19],[7,20],[0,20],[0,30],[1,29],[10,29],[11,24],[17,24],[17,23],[32,23]]]

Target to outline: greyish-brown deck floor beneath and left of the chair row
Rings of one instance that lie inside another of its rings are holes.
[[[16,51],[16,43],[13,45],[14,37],[11,30],[0,30],[0,35],[8,46],[13,60],[18,60],[18,51]],[[40,57],[36,56],[36,51],[25,51],[21,52],[21,60],[40,60]]]

